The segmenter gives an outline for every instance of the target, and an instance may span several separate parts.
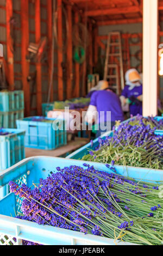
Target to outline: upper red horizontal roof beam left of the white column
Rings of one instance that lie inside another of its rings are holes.
[[[116,15],[116,14],[127,14],[127,13],[139,13],[139,7],[131,6],[126,8],[113,8],[113,9],[98,9],[86,11],[85,15],[89,17],[104,16],[104,15]]]

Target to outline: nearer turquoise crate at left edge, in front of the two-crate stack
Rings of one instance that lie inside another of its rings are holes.
[[[24,136],[25,131],[17,129],[1,129],[11,134],[0,135],[0,170],[13,166],[25,157]]]

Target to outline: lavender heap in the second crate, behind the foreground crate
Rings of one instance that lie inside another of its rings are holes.
[[[162,169],[163,136],[155,135],[155,128],[129,123],[114,127],[114,137],[99,138],[95,150],[90,149],[84,161]],[[93,143],[92,143],[93,146]]]

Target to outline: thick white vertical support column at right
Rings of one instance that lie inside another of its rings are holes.
[[[158,0],[143,0],[143,116],[158,114]]]

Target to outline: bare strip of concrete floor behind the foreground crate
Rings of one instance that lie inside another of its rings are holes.
[[[41,149],[33,149],[33,148],[26,148],[26,157],[32,156],[62,156],[66,155],[67,153],[72,153],[73,151],[83,147],[87,143],[89,143],[89,139],[86,138],[75,138],[74,141],[68,142],[67,145],[63,147],[57,148],[55,150],[41,150]]]

